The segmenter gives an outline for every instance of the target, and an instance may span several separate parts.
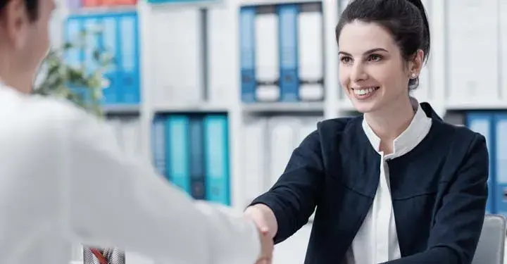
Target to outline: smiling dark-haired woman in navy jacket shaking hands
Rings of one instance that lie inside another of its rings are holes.
[[[430,50],[420,0],[355,0],[336,28],[363,115],[318,124],[245,213],[280,243],[315,210],[306,264],[470,263],[487,200],[485,139],[409,90]]]

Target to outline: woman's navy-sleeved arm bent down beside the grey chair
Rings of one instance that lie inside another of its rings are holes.
[[[486,201],[489,156],[480,134],[468,149],[434,219],[427,250],[386,264],[470,264],[480,238]]]

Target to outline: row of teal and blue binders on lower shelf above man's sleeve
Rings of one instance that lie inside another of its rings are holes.
[[[156,115],[152,132],[161,175],[194,199],[230,206],[226,114]]]

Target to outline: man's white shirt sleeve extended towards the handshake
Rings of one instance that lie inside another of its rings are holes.
[[[149,161],[123,153],[104,122],[77,116],[62,158],[62,215],[70,239],[164,263],[256,262],[258,232],[241,211],[191,199]]]

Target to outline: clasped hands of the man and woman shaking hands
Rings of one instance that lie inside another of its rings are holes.
[[[278,228],[273,210],[259,203],[246,208],[244,215],[256,224],[261,240],[261,255],[256,264],[271,264],[275,247],[273,237]]]

